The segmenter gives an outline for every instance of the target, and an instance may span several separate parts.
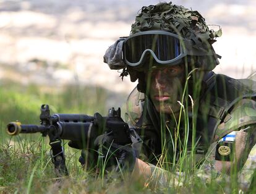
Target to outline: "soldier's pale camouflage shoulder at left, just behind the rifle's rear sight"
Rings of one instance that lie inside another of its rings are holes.
[[[142,116],[144,101],[144,93],[139,92],[135,87],[126,101],[126,122],[128,124],[135,125],[138,122]]]

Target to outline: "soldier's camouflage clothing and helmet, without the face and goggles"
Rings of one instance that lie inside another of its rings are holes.
[[[179,185],[182,182],[180,179],[186,178],[186,173],[183,174],[182,169],[178,167],[179,173],[174,173],[177,179],[168,181],[170,173],[162,168],[163,156],[167,158],[164,158],[164,161],[173,162],[169,165],[172,166],[182,159],[179,156],[190,153],[193,156],[192,164],[198,169],[194,173],[197,177],[205,182],[213,177],[221,179],[220,172],[223,172],[222,175],[231,174],[233,166],[237,166],[240,170],[240,187],[247,190],[256,171],[256,90],[252,90],[255,89],[255,83],[211,72],[220,59],[211,44],[221,36],[221,28],[216,32],[210,30],[205,19],[197,11],[163,2],[142,7],[135,23],[132,24],[130,35],[147,30],[165,30],[193,41],[193,53],[188,54],[182,64],[187,64],[189,71],[198,68],[205,74],[199,95],[195,96],[191,92],[194,91],[195,84],[189,83],[189,90],[192,90],[187,96],[192,96],[194,102],[188,103],[184,108],[189,118],[187,122],[177,127],[175,120],[169,116],[160,116],[151,100],[145,96],[145,67],[134,68],[122,60],[122,48],[126,38],[119,38],[106,51],[104,59],[110,69],[123,69],[121,77],[129,74],[131,82],[139,81],[127,100],[126,122],[136,129],[143,139],[142,148],[138,152],[143,161],[149,162],[153,180],[163,186],[170,183]],[[210,55],[207,54],[209,51]],[[200,80],[196,76],[193,75],[192,79]],[[192,104],[195,106],[194,110]],[[193,127],[187,127],[188,124]],[[174,146],[173,137],[177,136],[177,130],[180,141],[185,142],[183,139],[187,138],[187,144]],[[191,133],[195,133],[197,140],[195,149],[192,148],[194,139]],[[184,165],[191,163],[189,159],[186,162]]]

